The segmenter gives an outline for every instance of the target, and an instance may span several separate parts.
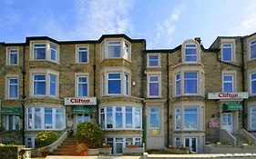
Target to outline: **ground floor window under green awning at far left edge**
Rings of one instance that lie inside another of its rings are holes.
[[[4,115],[5,121],[5,130],[19,130],[20,129],[20,116],[17,114],[5,114]]]

